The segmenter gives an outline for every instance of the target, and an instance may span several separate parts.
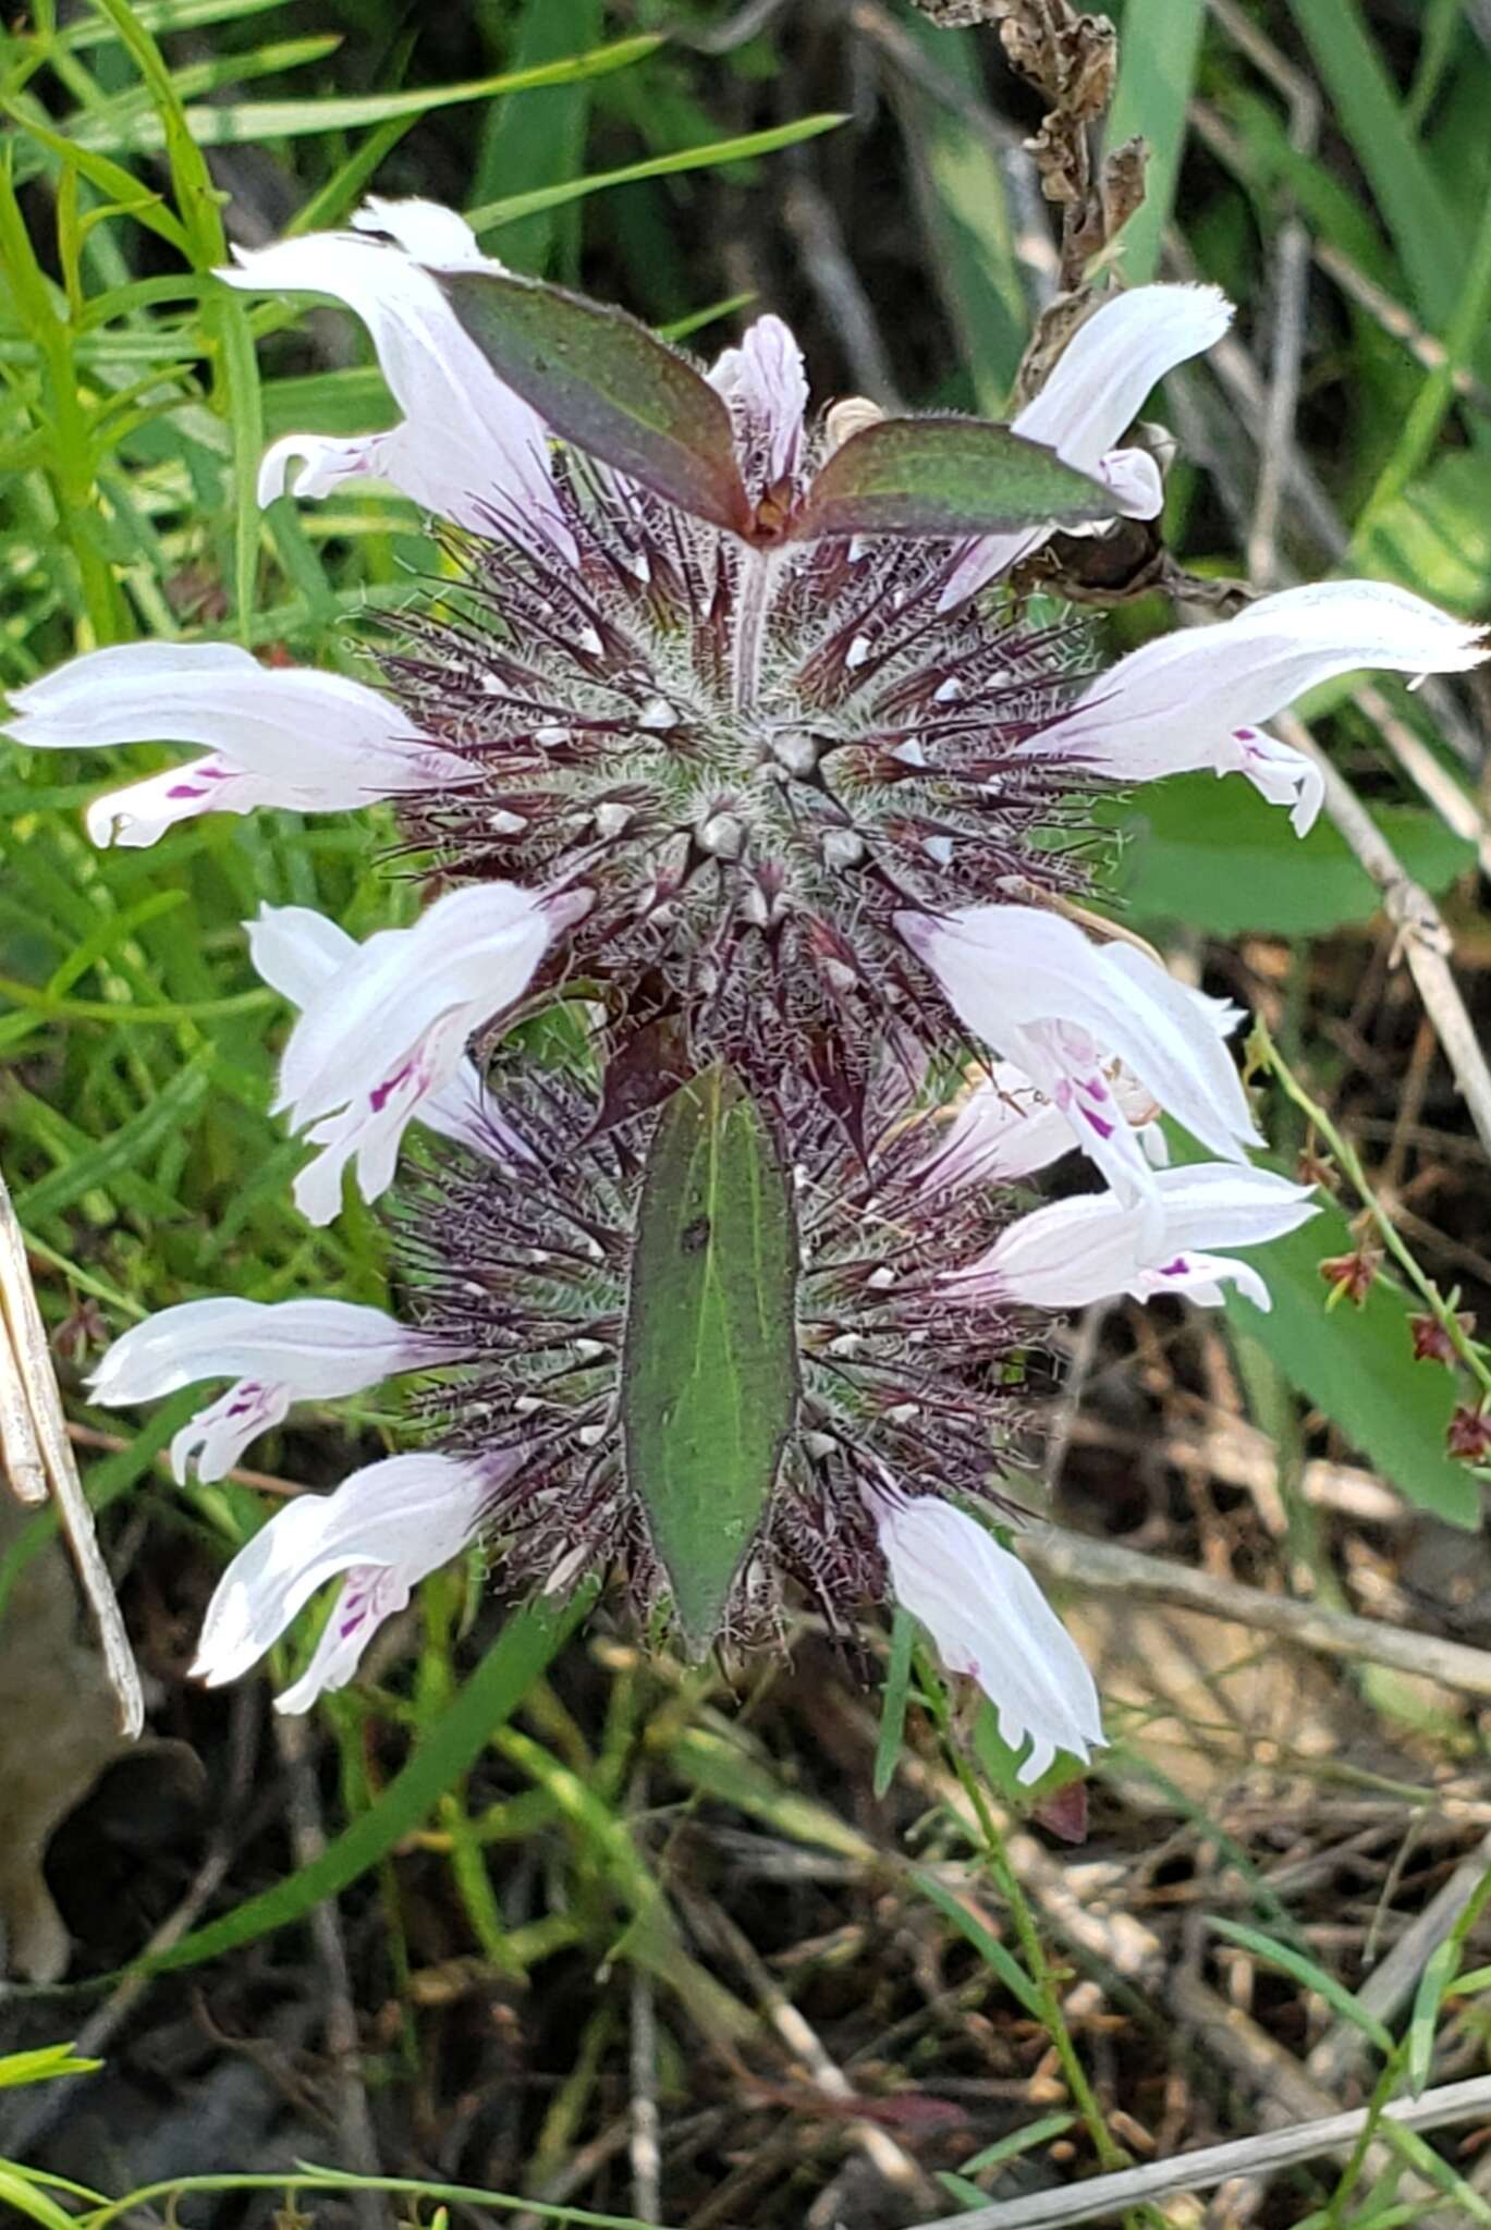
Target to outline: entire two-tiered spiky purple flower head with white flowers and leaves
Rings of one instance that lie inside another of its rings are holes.
[[[1312,1213],[1250,1164],[1241,1015],[1076,903],[1087,801],[1208,767],[1304,832],[1319,772],[1263,723],[1478,638],[1330,582],[1098,673],[1078,620],[1027,615],[1016,569],[1054,533],[1156,515],[1125,444],[1225,332],[1212,288],[1109,297],[995,426],[815,413],[779,319],[705,368],[426,203],[221,277],[339,299],[400,410],[286,435],[261,502],[388,482],[444,564],[355,680],[129,644],[13,700],[29,747],[203,754],[98,798],[98,843],[391,801],[431,876],[413,928],[362,943],[299,905],[248,928],[292,1008],[297,1204],[330,1222],[346,1173],[386,1200],[400,1316],[185,1302],[96,1378],[109,1403],[228,1380],[176,1438],[203,1478],[292,1400],[415,1378],[408,1452],[270,1519],[199,1668],[237,1677],[339,1579],[281,1697],[306,1708],[482,1539],[536,1590],[623,1572],[696,1650],[779,1632],[783,1588],[835,1630],[891,1594],[1027,1780],[1085,1759],[1091,1677],[991,1532],[1018,1534],[993,1472],[1029,1425],[1020,1356],[1042,1311],[1118,1293],[1266,1307],[1266,1255],[1232,1249]],[[538,1061],[513,1028],[558,1004]],[[1167,1171],[1161,1117],[1212,1160]],[[1078,1151],[1087,1189],[1016,1215],[1009,1186]]]

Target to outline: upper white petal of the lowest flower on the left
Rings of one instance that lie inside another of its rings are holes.
[[[373,1565],[408,1590],[473,1539],[496,1483],[453,1456],[413,1454],[353,1472],[335,1494],[297,1496],[223,1572],[192,1672],[210,1688],[237,1679],[337,1572]]]

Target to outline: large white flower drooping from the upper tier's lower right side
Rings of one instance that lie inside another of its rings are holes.
[[[966,1028],[1025,1070],[1123,1200],[1154,1202],[1154,1171],[1114,1102],[1114,1061],[1212,1153],[1239,1162],[1263,1144],[1223,1044],[1232,1010],[1134,946],[1094,946],[1033,905],[895,923]]]

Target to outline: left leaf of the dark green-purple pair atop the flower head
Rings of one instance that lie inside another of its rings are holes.
[[[681,511],[750,533],[730,410],[708,379],[625,310],[511,272],[440,272],[491,368],[565,442]]]

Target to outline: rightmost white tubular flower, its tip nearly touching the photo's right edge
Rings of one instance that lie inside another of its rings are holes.
[[[1120,783],[1201,767],[1245,774],[1270,805],[1290,807],[1295,830],[1306,836],[1326,794],[1321,772],[1257,723],[1357,667],[1462,673],[1484,656],[1480,627],[1391,582],[1281,589],[1237,620],[1187,627],[1129,651],[1020,752],[1080,758]]]

